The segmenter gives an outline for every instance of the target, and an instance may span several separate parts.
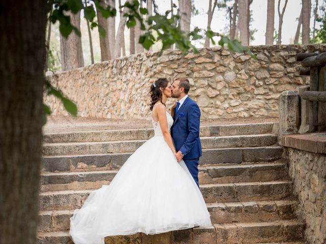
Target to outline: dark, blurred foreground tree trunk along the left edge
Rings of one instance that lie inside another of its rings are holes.
[[[1,9],[0,243],[35,244],[50,6],[44,0],[2,1]]]

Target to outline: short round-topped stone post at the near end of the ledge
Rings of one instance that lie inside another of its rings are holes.
[[[287,134],[297,134],[300,125],[299,95],[295,90],[286,90],[279,97],[279,144]]]

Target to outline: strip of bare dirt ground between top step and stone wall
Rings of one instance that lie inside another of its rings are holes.
[[[231,124],[256,124],[264,122],[276,122],[276,117],[260,118],[219,118],[202,119],[201,126],[208,125],[231,125]],[[120,129],[140,129],[151,128],[150,120],[145,119],[107,119],[94,117],[71,117],[71,116],[48,116],[47,123],[43,127],[43,132],[60,133],[92,130],[120,130]]]

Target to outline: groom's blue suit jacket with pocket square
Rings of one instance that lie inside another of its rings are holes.
[[[200,109],[189,97],[174,114],[176,104],[171,109],[174,123],[171,135],[177,151],[184,155],[183,159],[197,159],[202,156],[202,146],[199,138]]]

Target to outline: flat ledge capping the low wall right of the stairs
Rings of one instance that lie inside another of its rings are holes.
[[[311,153],[326,154],[326,133],[286,135],[282,137],[281,145]]]

